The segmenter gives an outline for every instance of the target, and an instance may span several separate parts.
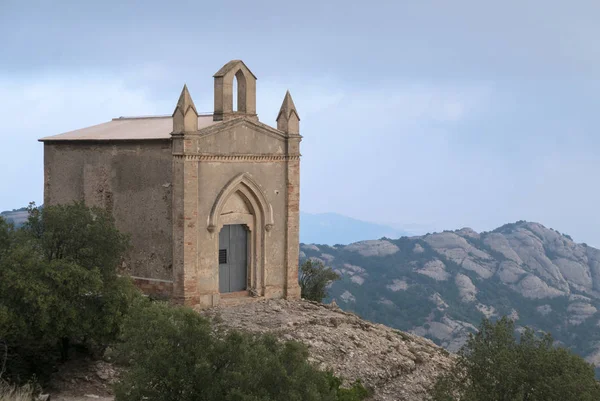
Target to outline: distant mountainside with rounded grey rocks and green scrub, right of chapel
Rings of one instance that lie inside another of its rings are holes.
[[[541,224],[303,244],[301,251],[342,275],[330,290],[341,308],[450,351],[482,317],[510,315],[600,363],[600,250]]]

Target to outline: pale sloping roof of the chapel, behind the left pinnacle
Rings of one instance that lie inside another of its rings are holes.
[[[206,128],[220,121],[213,121],[213,116],[198,117],[198,129]],[[91,127],[65,132],[64,134],[47,136],[39,139],[45,141],[132,141],[146,139],[169,139],[173,131],[171,116],[156,117],[119,117],[112,121]]]

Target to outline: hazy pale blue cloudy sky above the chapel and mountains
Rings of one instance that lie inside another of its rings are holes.
[[[243,59],[289,89],[301,209],[400,227],[524,219],[600,246],[600,2],[0,0],[0,210],[42,201],[36,140],[172,113]]]

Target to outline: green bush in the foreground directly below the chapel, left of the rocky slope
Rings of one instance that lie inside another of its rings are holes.
[[[364,398],[360,383],[340,389],[335,376],[313,367],[302,344],[281,343],[270,335],[215,333],[186,307],[138,301],[122,340],[116,347],[117,360],[125,364],[115,388],[118,401]]]

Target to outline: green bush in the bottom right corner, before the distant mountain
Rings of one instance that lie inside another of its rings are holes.
[[[549,335],[526,329],[517,342],[514,323],[484,320],[460,350],[455,367],[431,391],[434,401],[592,401],[600,399],[594,368]]]

